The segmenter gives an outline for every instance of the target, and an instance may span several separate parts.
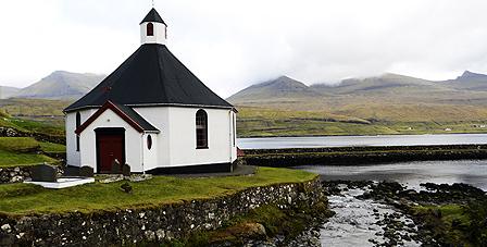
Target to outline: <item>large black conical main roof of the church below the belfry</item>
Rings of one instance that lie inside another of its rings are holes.
[[[65,112],[111,100],[128,107],[234,108],[196,77],[164,45],[145,44]]]

